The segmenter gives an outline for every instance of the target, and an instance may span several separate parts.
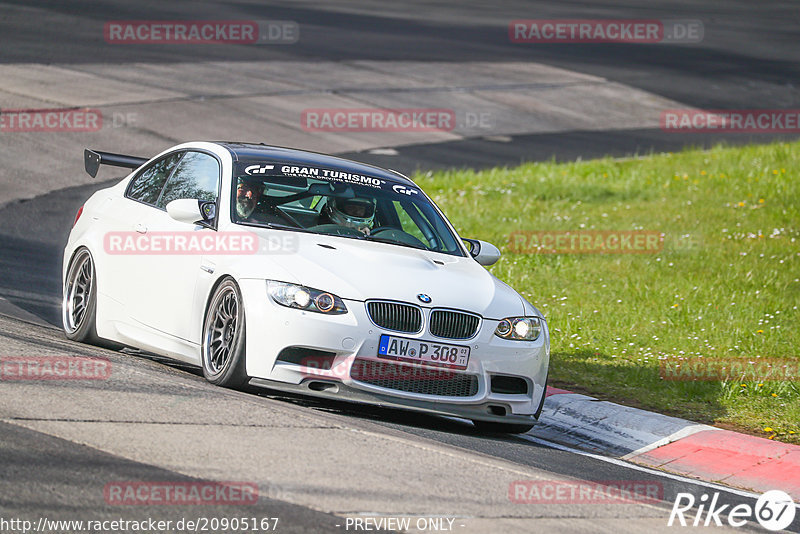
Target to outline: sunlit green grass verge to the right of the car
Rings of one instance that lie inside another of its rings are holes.
[[[415,176],[545,314],[550,384],[800,443],[800,381],[669,381],[659,360],[798,362],[800,143]],[[515,254],[514,231],[656,230],[651,254]],[[769,430],[765,430],[769,429]]]

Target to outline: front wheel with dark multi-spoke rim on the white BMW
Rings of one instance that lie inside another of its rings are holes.
[[[242,294],[232,278],[225,278],[214,291],[203,321],[201,351],[206,380],[231,389],[247,385],[245,339]]]

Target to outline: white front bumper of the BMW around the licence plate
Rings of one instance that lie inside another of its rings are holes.
[[[384,330],[372,323],[365,304],[360,301],[345,300],[348,313],[329,316],[276,304],[267,295],[263,280],[241,280],[240,285],[245,296],[247,318],[246,368],[247,374],[253,378],[253,385],[474,420],[535,421],[544,398],[550,357],[549,332],[544,322],[542,334],[532,342],[509,341],[495,336],[498,321],[490,319],[481,321],[478,334],[472,339],[437,339],[425,329],[420,334]],[[423,309],[425,314],[428,311]],[[387,361],[377,357],[381,334],[469,345],[467,368],[457,373],[477,378],[475,393],[469,396],[429,395],[353,379],[350,370],[354,362]],[[332,365],[324,369],[316,362],[308,366],[278,360],[278,354],[288,347],[331,353]],[[524,379],[528,383],[527,393],[492,392],[490,381],[493,375]]]

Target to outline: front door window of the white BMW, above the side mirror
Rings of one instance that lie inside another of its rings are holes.
[[[217,200],[219,174],[216,158],[203,152],[187,152],[164,186],[156,206],[166,208],[179,198]]]

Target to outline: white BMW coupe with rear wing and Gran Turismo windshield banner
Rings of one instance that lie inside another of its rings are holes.
[[[527,432],[545,398],[542,314],[485,268],[405,176],[301,150],[191,142],[78,211],[64,250],[68,338],[246,385]]]

